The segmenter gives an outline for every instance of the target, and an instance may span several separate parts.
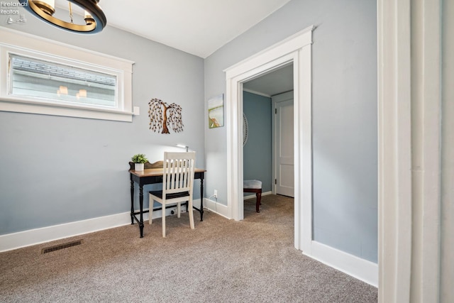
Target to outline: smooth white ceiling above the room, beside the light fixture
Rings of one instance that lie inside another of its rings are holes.
[[[290,0],[101,0],[108,26],[206,58]]]

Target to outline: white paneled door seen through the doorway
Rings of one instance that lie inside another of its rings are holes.
[[[294,197],[293,92],[272,97],[275,193]]]

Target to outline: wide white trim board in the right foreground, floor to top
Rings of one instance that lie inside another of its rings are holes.
[[[453,302],[441,290],[443,2],[377,1],[381,303]]]

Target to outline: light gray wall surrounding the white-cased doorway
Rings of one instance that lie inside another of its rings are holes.
[[[205,60],[205,97],[224,69],[314,25],[314,239],[377,262],[377,4],[293,0]],[[226,121],[228,125],[228,121]],[[206,132],[206,180],[227,204],[226,128]]]

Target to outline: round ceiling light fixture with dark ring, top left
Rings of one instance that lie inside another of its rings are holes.
[[[62,21],[52,16],[55,13],[55,0],[19,0],[24,9],[33,15],[66,31],[75,33],[99,33],[107,24],[106,16],[98,5],[99,0],[68,0],[71,22]],[[85,24],[74,24],[71,3],[84,9]]]

